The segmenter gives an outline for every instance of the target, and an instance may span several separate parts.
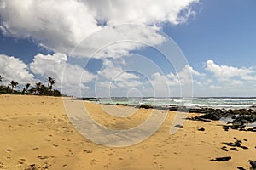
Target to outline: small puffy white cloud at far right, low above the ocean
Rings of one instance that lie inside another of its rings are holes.
[[[230,78],[253,79],[250,74],[254,73],[252,68],[237,68],[228,65],[216,65],[212,60],[207,60],[207,71],[211,71],[220,81],[228,81]]]

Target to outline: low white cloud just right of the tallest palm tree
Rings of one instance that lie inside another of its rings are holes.
[[[56,87],[61,88],[62,93],[78,96],[79,90],[89,89],[86,83],[95,77],[79,65],[68,64],[66,54],[37,54],[30,64],[30,69],[41,77],[55,78]]]

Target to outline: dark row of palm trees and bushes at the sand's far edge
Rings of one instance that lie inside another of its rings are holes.
[[[0,75],[0,82],[3,81],[3,77]],[[55,79],[52,77],[47,77],[47,86],[42,82],[37,82],[32,86],[31,83],[26,83],[22,91],[16,90],[19,82],[11,80],[9,85],[0,85],[0,94],[35,94],[35,95],[51,95],[51,96],[61,96],[61,92],[54,89]]]

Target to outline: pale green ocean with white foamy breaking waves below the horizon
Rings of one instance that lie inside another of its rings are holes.
[[[111,98],[98,99],[100,104],[154,105],[160,107],[187,106],[189,108],[210,107],[214,109],[255,109],[256,98]]]

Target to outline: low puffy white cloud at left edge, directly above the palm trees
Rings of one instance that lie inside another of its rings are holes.
[[[34,76],[29,72],[29,68],[20,59],[0,54],[0,63],[0,75],[4,77],[4,84],[8,85],[11,80],[20,84],[34,81]]]

